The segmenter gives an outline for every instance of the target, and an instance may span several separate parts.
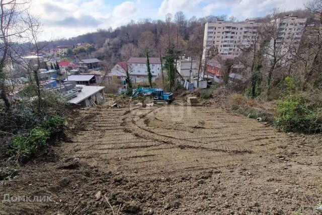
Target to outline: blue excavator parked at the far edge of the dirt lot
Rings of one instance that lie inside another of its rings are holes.
[[[173,93],[165,93],[163,89],[139,87],[133,92],[131,98],[133,99],[138,95],[153,95],[154,104],[170,104],[174,100]]]

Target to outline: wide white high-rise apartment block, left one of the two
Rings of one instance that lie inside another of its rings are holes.
[[[250,46],[252,38],[256,35],[256,28],[257,24],[253,20],[238,23],[217,20],[214,23],[206,23],[203,58],[211,46],[216,47],[219,54],[238,55],[241,53],[238,47]]]

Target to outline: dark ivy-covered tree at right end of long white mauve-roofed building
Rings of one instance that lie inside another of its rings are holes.
[[[175,45],[173,43],[169,44],[167,48],[167,54],[165,56],[165,69],[167,70],[168,82],[170,84],[170,91],[172,91],[173,87],[175,86],[175,75],[176,75],[176,68],[175,68]]]

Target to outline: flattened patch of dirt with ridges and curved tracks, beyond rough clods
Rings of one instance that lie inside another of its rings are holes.
[[[104,171],[154,177],[248,162],[284,141],[274,129],[219,108],[171,108],[102,108],[63,147]]]

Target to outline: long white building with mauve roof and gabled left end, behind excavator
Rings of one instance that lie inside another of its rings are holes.
[[[149,57],[152,81],[161,74],[161,61],[158,57]],[[109,77],[116,76],[125,80],[128,69],[133,83],[147,82],[147,66],[145,57],[130,57],[126,62],[118,62],[109,73]]]

